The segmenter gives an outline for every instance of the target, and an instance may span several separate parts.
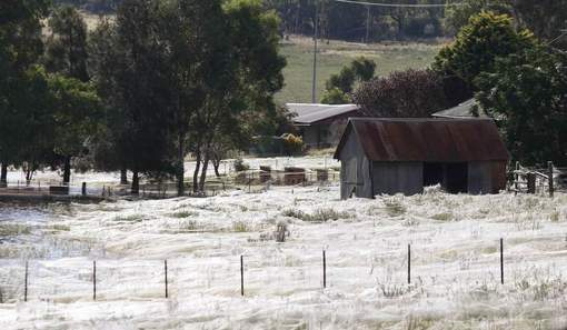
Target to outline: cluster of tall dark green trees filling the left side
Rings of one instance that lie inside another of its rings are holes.
[[[230,150],[277,130],[284,113],[279,19],[256,0],[123,0],[88,31],[76,7],[0,2],[0,181],[42,167],[69,183],[77,160],[98,170],[172,177],[185,159],[202,191]],[[42,22],[47,18],[47,36]],[[4,74],[6,73],[6,74]]]

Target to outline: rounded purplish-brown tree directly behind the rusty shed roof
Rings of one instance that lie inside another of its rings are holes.
[[[441,77],[431,70],[406,70],[362,83],[352,96],[369,117],[430,117],[446,109]]]

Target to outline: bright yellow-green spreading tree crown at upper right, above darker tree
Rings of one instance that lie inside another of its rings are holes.
[[[536,38],[528,30],[517,31],[513,18],[494,12],[472,17],[451,44],[444,47],[432,64],[444,76],[455,76],[474,89],[474,79],[493,70],[497,58],[534,47]]]

